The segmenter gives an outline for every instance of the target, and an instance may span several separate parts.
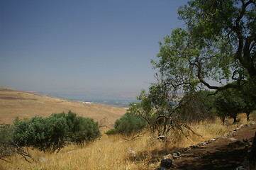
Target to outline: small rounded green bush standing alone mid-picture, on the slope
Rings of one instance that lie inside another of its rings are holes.
[[[133,135],[143,130],[146,125],[146,121],[140,115],[135,115],[128,111],[120,119],[116,120],[114,129],[108,131],[106,134],[119,133],[122,135]]]

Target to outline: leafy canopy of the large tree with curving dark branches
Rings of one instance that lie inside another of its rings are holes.
[[[187,27],[172,30],[160,42],[159,60],[152,61],[162,83],[174,91],[245,84],[256,91],[255,0],[194,0],[178,13]]]

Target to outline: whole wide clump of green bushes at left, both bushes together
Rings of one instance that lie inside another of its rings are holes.
[[[79,117],[71,111],[55,113],[48,118],[18,120],[13,130],[13,140],[18,146],[52,151],[64,147],[67,141],[82,143],[99,136],[99,127],[94,120]]]

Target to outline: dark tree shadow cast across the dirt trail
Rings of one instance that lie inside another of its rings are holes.
[[[202,152],[200,149],[194,149],[183,162],[174,164],[174,169],[218,169],[228,170],[241,166],[245,157],[247,157],[248,148],[239,142],[230,143],[230,145],[220,147],[214,152]]]

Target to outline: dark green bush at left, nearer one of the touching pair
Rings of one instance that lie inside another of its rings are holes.
[[[66,132],[65,118],[34,117],[29,121],[20,121],[15,125],[13,140],[18,146],[55,150],[65,145]]]

